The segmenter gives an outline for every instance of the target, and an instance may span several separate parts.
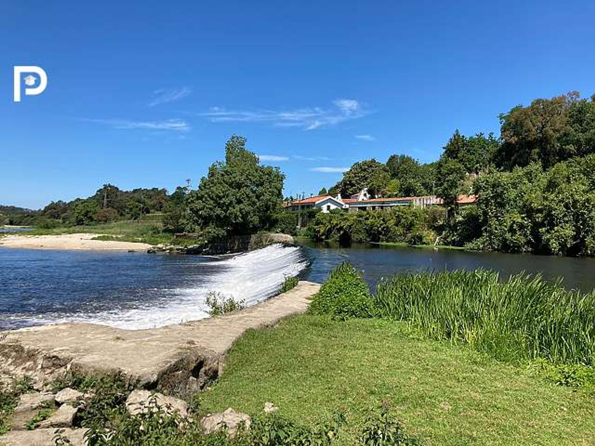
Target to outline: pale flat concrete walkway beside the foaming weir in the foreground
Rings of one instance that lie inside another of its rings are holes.
[[[66,370],[121,373],[145,387],[200,390],[216,378],[222,358],[246,330],[305,312],[320,285],[297,287],[217,318],[147,330],[64,323],[0,333],[0,370],[42,384]]]

